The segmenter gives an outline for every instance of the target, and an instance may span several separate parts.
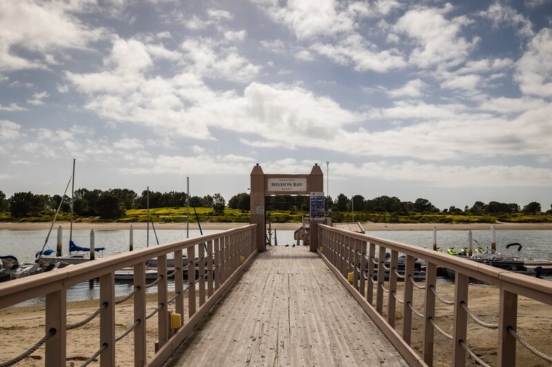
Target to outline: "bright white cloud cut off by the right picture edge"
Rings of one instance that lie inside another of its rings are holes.
[[[552,30],[543,28],[517,61],[514,80],[524,94],[552,96]]]

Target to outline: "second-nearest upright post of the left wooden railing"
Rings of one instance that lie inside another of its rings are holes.
[[[107,304],[99,314],[99,346],[107,345],[99,356],[99,365],[115,366],[115,273],[99,277],[99,304]]]

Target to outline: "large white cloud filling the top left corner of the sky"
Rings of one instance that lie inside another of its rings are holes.
[[[103,28],[89,28],[70,11],[75,4],[32,0],[0,1],[0,70],[43,68],[52,52],[87,48],[103,38]],[[17,47],[16,47],[17,46]],[[23,49],[26,52],[18,53]],[[36,56],[43,53],[43,60]]]

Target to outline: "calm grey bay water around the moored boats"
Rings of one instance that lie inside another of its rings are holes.
[[[204,234],[217,233],[218,231],[204,231]],[[15,255],[19,262],[34,261],[34,254],[42,248],[48,231],[10,231],[0,230],[0,255]],[[482,247],[491,247],[491,231],[472,231],[473,239],[477,240]],[[433,231],[372,231],[366,234],[374,237],[396,240],[407,244],[414,244],[420,247],[430,248],[433,246]],[[199,231],[190,231],[190,238],[200,235]],[[143,249],[146,247],[146,230],[134,231],[134,249]],[[184,240],[186,238],[185,230],[160,230],[157,231],[159,243]],[[89,230],[73,231],[73,239],[76,244],[88,247],[90,244]],[[497,249],[501,249],[511,242],[519,242],[523,249],[520,253],[522,258],[552,260],[552,231],[496,231]],[[438,231],[437,246],[446,249],[448,247],[467,246],[468,231]],[[63,244],[66,246],[69,242],[69,231],[63,231]],[[102,257],[115,255],[128,251],[129,231],[126,230],[108,230],[95,231],[96,247],[106,247]],[[274,242],[274,239],[273,239]],[[279,245],[293,244],[293,231],[277,231],[277,242]],[[57,233],[55,231],[50,235],[47,248],[55,249],[57,243]],[[150,246],[157,244],[153,231],[150,230]],[[65,247],[64,253],[67,251]],[[170,284],[169,286],[172,286]],[[117,295],[124,295],[132,291],[132,284],[119,283],[115,286]],[[155,293],[155,287],[148,289]],[[99,286],[97,281],[77,284],[68,289],[68,301],[75,300],[93,300],[99,295]],[[43,302],[43,297],[39,297],[28,303]]]

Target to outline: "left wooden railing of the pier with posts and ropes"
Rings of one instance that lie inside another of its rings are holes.
[[[201,318],[219,300],[234,282],[239,273],[254,258],[256,224],[230,229],[212,235],[162,244],[120,255],[94,260],[86,264],[33,275],[0,284],[0,309],[18,304],[34,297],[46,295],[46,366],[66,365],[66,332],[86,324],[99,315],[99,350],[91,359],[99,357],[100,366],[115,366],[115,343],[131,331],[134,332],[135,366],[161,366],[184,338],[193,331]],[[199,258],[196,258],[195,249]],[[205,251],[205,247],[207,251]],[[188,264],[183,264],[183,253],[188,255]],[[167,255],[175,259],[174,271],[167,273]],[[157,280],[146,283],[146,262],[157,258]],[[133,291],[126,297],[115,298],[115,271],[132,266],[134,269]],[[195,277],[196,268],[199,276]],[[184,286],[184,269],[188,281]],[[174,297],[168,298],[167,279],[174,277]],[[67,325],[66,291],[69,286],[99,278],[99,308],[77,324]],[[157,286],[157,308],[146,315],[146,289]],[[196,291],[197,289],[197,291]],[[170,329],[168,305],[174,302],[175,313],[184,319],[184,295],[188,293],[188,319],[177,330]],[[133,299],[134,323],[123,335],[115,336],[116,305]],[[199,299],[198,299],[199,298]],[[199,306],[199,308],[197,308]],[[155,355],[146,359],[146,320],[157,315],[157,346]],[[29,345],[34,342],[29,340]],[[39,343],[37,343],[39,344]],[[35,344],[35,346],[37,345]],[[24,347],[22,346],[22,352]],[[26,353],[22,353],[19,360]],[[6,356],[8,357],[8,356]],[[16,356],[13,356],[16,357]],[[1,361],[0,365],[9,365]],[[86,362],[85,362],[86,363]]]

